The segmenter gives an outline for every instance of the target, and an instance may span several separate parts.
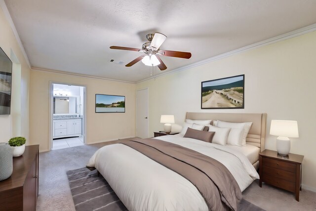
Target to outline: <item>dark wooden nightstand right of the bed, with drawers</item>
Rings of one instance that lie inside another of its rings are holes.
[[[264,150],[259,154],[259,185],[262,182],[295,193],[295,199],[299,202],[302,162],[304,156],[289,153],[288,156],[280,156],[276,151]]]

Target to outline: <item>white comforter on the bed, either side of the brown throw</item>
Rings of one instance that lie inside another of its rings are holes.
[[[180,135],[157,139],[218,160],[233,174],[241,191],[259,178],[244,155],[225,146]],[[129,211],[208,211],[204,198],[190,181],[126,145],[100,148],[87,166],[99,170]]]

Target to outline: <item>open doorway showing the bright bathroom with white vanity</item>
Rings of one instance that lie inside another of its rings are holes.
[[[85,143],[85,86],[51,83],[50,149]]]

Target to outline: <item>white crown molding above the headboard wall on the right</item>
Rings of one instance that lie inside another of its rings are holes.
[[[183,66],[183,67],[180,67],[180,68],[177,68],[177,69],[170,70],[168,72],[161,73],[158,76],[153,76],[153,77],[150,77],[150,78],[138,81],[138,82],[136,82],[136,84],[144,82],[144,81],[147,81],[147,80],[159,78],[159,77],[162,77],[162,76],[165,76],[165,75],[173,74],[173,73],[176,73],[176,72],[179,72],[179,71],[191,69],[191,68],[194,68],[194,67],[197,67],[197,66],[200,66],[200,65],[203,65],[203,64],[206,64],[206,63],[218,60],[218,59],[222,59],[222,58],[225,58],[225,57],[228,57],[228,56],[232,56],[232,55],[237,54],[237,53],[242,53],[242,52],[245,52],[247,50],[252,50],[252,49],[255,49],[255,48],[258,48],[258,47],[262,47],[262,46],[266,46],[266,45],[273,44],[273,43],[276,43],[276,42],[288,40],[288,39],[295,38],[295,37],[298,37],[298,36],[301,36],[301,35],[305,35],[307,33],[314,32],[314,31],[316,31],[316,24],[313,24],[313,25],[310,25],[310,26],[307,26],[307,27],[303,27],[301,29],[297,29],[297,30],[294,30],[294,31],[291,31],[291,32],[288,32],[288,33],[285,33],[285,34],[282,34],[282,35],[279,35],[279,36],[276,36],[276,37],[273,37],[273,38],[270,38],[270,39],[267,39],[267,40],[264,40],[264,41],[261,41],[261,42],[256,42],[256,43],[253,43],[253,44],[250,44],[250,45],[238,48],[236,50],[232,50],[232,51],[229,51],[229,52],[217,55],[217,56],[210,57],[208,59],[204,59],[204,60],[198,61],[198,62],[190,64],[190,65],[186,65],[186,66]]]

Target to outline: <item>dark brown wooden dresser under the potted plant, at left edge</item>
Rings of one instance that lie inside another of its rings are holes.
[[[39,145],[13,158],[13,172],[0,181],[0,211],[35,211],[39,195]]]

